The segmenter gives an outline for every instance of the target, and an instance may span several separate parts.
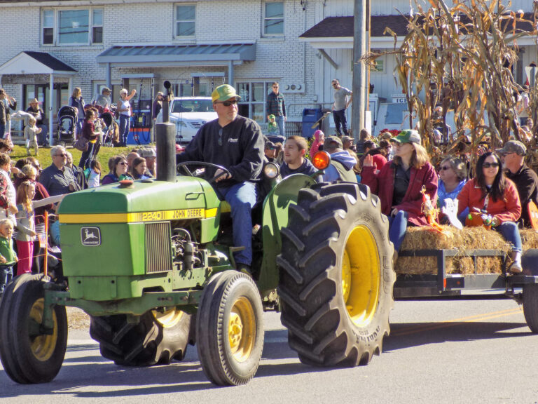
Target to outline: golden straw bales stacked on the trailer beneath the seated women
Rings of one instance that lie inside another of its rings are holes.
[[[530,234],[538,245],[538,234]],[[443,226],[443,232],[430,227],[409,227],[401,245],[402,251],[411,253],[418,250],[457,250],[455,257],[446,259],[447,274],[474,274],[474,260],[465,256],[466,250],[501,250],[509,253],[509,243],[497,233],[484,227],[464,227],[458,230],[452,226]],[[500,274],[501,257],[478,257],[477,274]],[[436,257],[399,257],[394,266],[396,274],[437,274]]]

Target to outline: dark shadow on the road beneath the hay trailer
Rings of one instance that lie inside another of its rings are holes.
[[[385,338],[383,351],[396,351],[411,346],[441,344],[448,341],[515,338],[534,335],[525,331],[526,323],[447,322],[447,323],[392,323],[390,335]]]

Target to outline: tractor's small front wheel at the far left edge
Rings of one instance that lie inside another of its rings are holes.
[[[41,330],[48,277],[24,275],[4,292],[0,309],[0,356],[13,381],[21,384],[53,380],[64,361],[67,348],[65,307],[53,308],[53,329]]]

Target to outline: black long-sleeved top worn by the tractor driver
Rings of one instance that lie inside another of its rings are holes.
[[[238,182],[256,180],[263,167],[264,145],[258,123],[237,115],[223,128],[218,119],[202,126],[185,151],[176,156],[176,161],[204,161],[228,168],[232,178],[219,181],[216,186],[229,187]],[[206,177],[213,177],[215,171],[214,168],[206,168]]]

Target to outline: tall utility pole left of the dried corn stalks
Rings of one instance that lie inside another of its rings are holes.
[[[366,55],[367,39],[369,36],[366,17],[369,12],[369,0],[354,0],[353,18],[353,105],[351,123],[353,127],[353,137],[359,138],[359,132],[364,128],[368,92],[366,91],[366,65],[361,57]]]

